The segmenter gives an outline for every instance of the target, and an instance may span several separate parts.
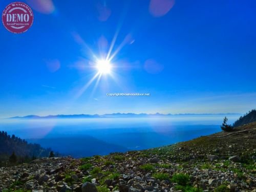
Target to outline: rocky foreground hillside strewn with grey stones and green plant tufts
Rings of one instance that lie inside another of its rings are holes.
[[[0,168],[0,191],[256,191],[256,123],[172,146]]]

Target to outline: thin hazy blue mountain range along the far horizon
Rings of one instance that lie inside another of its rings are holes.
[[[38,116],[38,115],[27,115],[27,116],[14,116],[10,118],[108,118],[108,117],[167,117],[167,116],[193,116],[193,115],[241,115],[240,113],[183,113],[183,114],[147,114],[147,113],[111,113],[111,114],[73,114],[73,115],[48,115],[48,116]]]

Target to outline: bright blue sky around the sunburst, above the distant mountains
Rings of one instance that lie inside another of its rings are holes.
[[[254,0],[41,1],[25,1],[34,12],[27,32],[0,25],[0,117],[256,106]],[[112,73],[83,89],[112,42]],[[151,95],[106,96],[116,92]]]

